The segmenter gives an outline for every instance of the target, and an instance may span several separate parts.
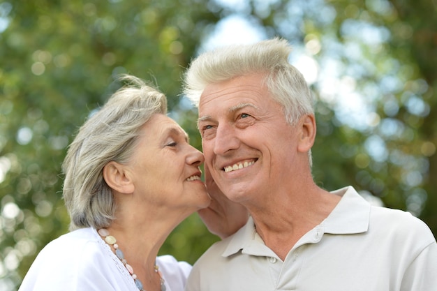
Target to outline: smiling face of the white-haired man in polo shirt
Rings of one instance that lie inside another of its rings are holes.
[[[298,130],[269,96],[262,74],[207,86],[198,126],[205,165],[230,200],[262,203],[283,179],[290,179]]]

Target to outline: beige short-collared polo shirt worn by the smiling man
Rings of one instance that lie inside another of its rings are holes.
[[[196,262],[188,291],[437,290],[437,244],[407,212],[374,207],[353,187],[286,260],[265,246],[252,219]]]

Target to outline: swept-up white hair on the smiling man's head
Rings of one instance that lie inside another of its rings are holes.
[[[313,114],[313,98],[302,73],[288,63],[291,46],[273,38],[250,45],[231,45],[205,52],[191,62],[184,76],[184,95],[198,107],[208,84],[253,73],[265,73],[271,97],[283,107],[288,123]]]

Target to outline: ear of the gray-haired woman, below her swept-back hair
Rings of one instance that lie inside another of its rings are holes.
[[[103,167],[106,184],[119,193],[133,193],[135,186],[125,165],[111,161]]]

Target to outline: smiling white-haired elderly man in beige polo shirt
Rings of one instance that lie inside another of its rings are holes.
[[[427,225],[371,206],[351,186],[314,183],[313,102],[289,54],[275,38],[206,52],[188,68],[209,193],[251,218],[202,255],[186,290],[437,290]],[[200,213],[207,225],[225,214],[219,205]]]

